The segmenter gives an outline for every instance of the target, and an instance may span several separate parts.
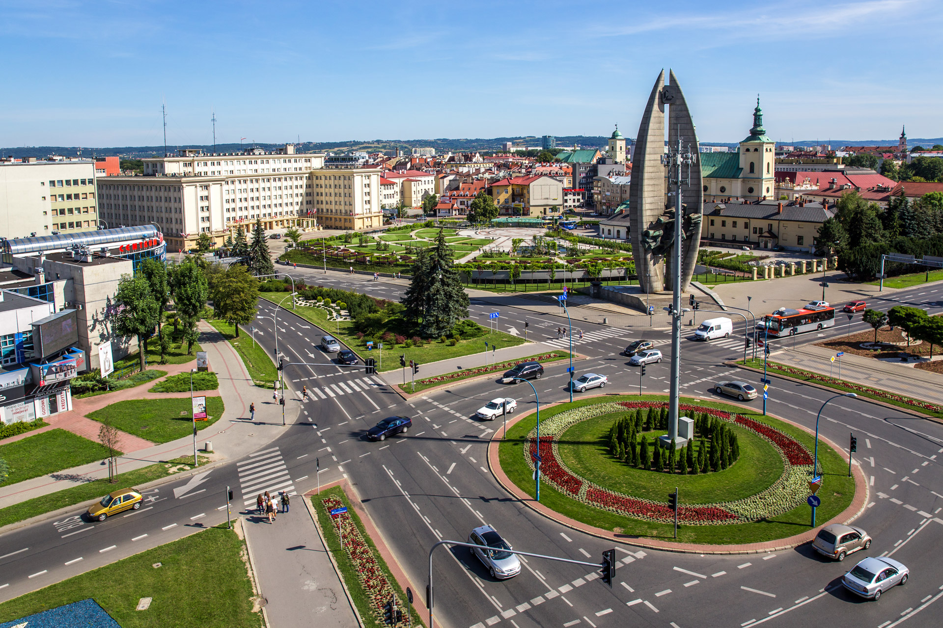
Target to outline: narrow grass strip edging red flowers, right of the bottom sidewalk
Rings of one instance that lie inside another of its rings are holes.
[[[373,539],[370,538],[370,535],[367,534],[367,528],[365,528],[363,522],[360,521],[359,515],[357,515],[356,510],[351,505],[350,500],[347,499],[346,493],[344,493],[340,487],[336,486],[331,487],[330,489],[322,490],[320,495],[312,495],[311,504],[314,506],[315,512],[318,513],[318,523],[321,525],[321,529],[324,534],[324,541],[325,545],[327,545],[327,551],[334,556],[335,561],[338,563],[340,577],[344,579],[344,584],[347,585],[347,590],[350,591],[351,598],[354,599],[357,612],[360,613],[360,619],[362,619],[364,625],[368,626],[369,628],[385,628],[388,624],[377,621],[373,615],[370,596],[367,594],[366,589],[363,588],[363,584],[360,582],[360,577],[356,571],[353,561],[351,560],[350,556],[347,555],[347,552],[341,550],[340,548],[340,540],[338,538],[337,528],[331,521],[331,516],[327,513],[327,510],[322,505],[322,501],[327,497],[335,497],[339,499],[345,507],[347,507],[347,512],[350,514],[351,519],[354,520],[357,529],[360,531],[360,535],[370,546],[373,557],[376,558],[376,562],[379,563],[380,569],[382,569],[384,575],[387,576],[390,587],[396,591],[396,596],[400,601],[405,602],[405,591],[400,586],[400,583],[397,582],[396,578],[393,577],[393,573],[389,571],[387,561],[383,559],[383,556],[381,556],[380,552],[376,549],[376,544],[373,542]],[[418,591],[417,594],[419,594]],[[422,618],[419,616],[419,613],[417,613],[411,605],[407,604],[407,606],[409,607],[409,612],[412,614],[413,625],[424,625]]]

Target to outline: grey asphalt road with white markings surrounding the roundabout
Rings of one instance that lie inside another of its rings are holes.
[[[369,278],[356,275],[323,276],[322,282],[356,287],[385,298],[395,298],[402,289],[395,283],[369,282]],[[929,292],[919,292],[924,291],[897,293],[898,302],[934,298]],[[269,303],[263,302],[262,307],[269,314],[273,311]],[[474,304],[472,315],[492,309],[485,302]],[[529,320],[530,330],[538,334],[544,330],[542,341],[554,346],[553,330],[561,324],[559,317],[517,308],[505,310],[502,316],[507,324]],[[520,411],[527,411],[535,402],[529,386],[479,380],[407,403],[380,385],[382,378],[365,381],[362,371],[340,369],[329,362],[328,356],[314,348],[321,330],[284,310],[278,321],[279,348],[293,361],[317,364],[291,366],[287,371],[287,378],[299,380],[291,383],[296,390],[287,406],[296,429],[256,455],[212,470],[203,483],[178,496],[174,496],[174,489],[192,478],[161,486],[148,494],[145,508],[149,509],[127,517],[80,524],[61,518],[58,524],[37,523],[4,535],[0,547],[7,556],[0,556],[0,600],[178,538],[201,524],[224,521],[226,485],[236,489],[237,509],[244,506],[243,500],[254,505],[254,496],[262,487],[280,484],[280,488],[294,491],[313,489],[314,459],[320,459],[323,482],[347,475],[356,485],[372,518],[420,589],[433,543],[465,540],[471,529],[482,523],[495,526],[515,549],[538,554],[599,561],[603,550],[611,546],[537,515],[503,491],[488,473],[485,455],[491,425],[473,419],[473,413],[499,395],[517,398]],[[637,369],[628,366],[619,352],[631,339],[651,338],[661,342],[659,348],[666,360],[648,368],[643,391],[667,391],[673,359],[670,345],[662,342],[668,339],[667,332],[644,328],[613,334],[613,328],[581,327],[585,341],[577,342],[576,350],[587,360],[577,363],[578,373],[607,375],[606,393],[637,393]],[[256,332],[256,340],[273,352],[272,321],[257,320],[256,330],[261,331]],[[811,335],[815,334],[807,334]],[[805,337],[802,342],[807,342]],[[683,342],[683,394],[712,398],[712,383],[719,378],[741,378],[758,386],[752,372],[721,365],[738,353],[742,355],[740,343]],[[537,384],[541,403],[569,398],[565,368],[566,364],[547,368]],[[316,374],[319,378],[315,381]],[[814,427],[819,407],[831,395],[770,379],[770,413]],[[302,385],[309,391],[307,401],[297,394]],[[412,417],[413,428],[407,435],[383,443],[362,440],[367,427],[392,414]],[[938,605],[931,604],[943,590],[943,569],[930,548],[943,540],[943,483],[936,463],[943,455],[943,427],[851,398],[829,404],[822,416],[821,433],[833,442],[847,444],[851,431],[858,437],[856,460],[868,475],[870,486],[868,507],[857,523],[874,538],[868,552],[852,555],[844,563],[832,563],[806,546],[777,555],[699,556],[620,545],[620,568],[615,587],[610,589],[587,579],[592,577],[591,568],[536,558],[524,563],[518,577],[495,581],[465,550],[439,549],[433,560],[438,620],[452,628],[498,624],[515,628],[583,624],[686,628],[762,622],[890,628],[901,621],[908,626],[937,625]],[[74,527],[68,527],[72,524]],[[858,559],[885,553],[910,568],[911,578],[905,587],[888,591],[877,603],[858,601],[837,587],[838,578]]]

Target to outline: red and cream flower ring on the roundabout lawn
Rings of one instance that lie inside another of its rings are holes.
[[[656,523],[670,523],[674,511],[664,502],[625,495],[599,486],[573,473],[560,459],[557,442],[569,427],[589,418],[617,411],[664,406],[654,401],[625,401],[600,403],[575,408],[554,415],[540,424],[527,436],[527,463],[534,468],[534,457],[539,452],[540,476],[556,490],[587,506],[599,507],[616,514]],[[808,494],[806,482],[812,472],[812,455],[798,441],[775,427],[740,414],[720,411],[715,408],[681,404],[679,411],[707,413],[752,431],[766,440],[780,453],[783,459],[783,475],[765,491],[732,502],[679,505],[678,523],[691,525],[716,525],[722,523],[749,523],[775,517],[805,503]]]

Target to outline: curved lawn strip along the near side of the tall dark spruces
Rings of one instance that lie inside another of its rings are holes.
[[[270,298],[266,293],[260,295],[262,298],[268,300],[274,300]],[[317,325],[321,329],[327,331],[328,333],[337,336],[337,338],[353,349],[361,358],[373,358],[377,361],[377,368],[383,371],[391,371],[400,368],[400,356],[405,355],[405,361],[408,363],[410,360],[415,360],[421,364],[420,372],[418,376],[422,376],[422,364],[428,362],[438,362],[439,360],[448,360],[450,358],[461,358],[463,356],[481,353],[485,348],[485,343],[488,343],[488,346],[497,345],[499,349],[505,348],[506,346],[517,346],[523,344],[523,338],[518,338],[517,336],[512,336],[509,333],[504,331],[494,331],[480,336],[478,338],[473,338],[472,340],[462,340],[456,346],[449,346],[448,344],[442,344],[438,341],[433,341],[431,343],[426,343],[423,346],[411,346],[405,347],[402,345],[392,346],[392,343],[384,343],[383,350],[374,348],[372,351],[367,351],[367,342],[366,340],[358,340],[353,327],[354,324],[349,321],[336,322],[328,321],[327,313],[321,308],[313,307],[302,307],[298,306],[297,310],[292,310],[294,314],[298,314],[302,318],[305,318],[307,321]],[[375,345],[374,345],[375,346]],[[382,355],[382,368],[381,368],[381,355]],[[469,360],[470,366],[477,366],[478,364],[484,365],[485,358],[483,356],[475,356]]]

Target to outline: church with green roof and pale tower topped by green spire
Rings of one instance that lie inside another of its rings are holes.
[[[757,98],[756,108],[753,109],[753,128],[750,129],[750,135],[740,142],[736,153],[701,153],[703,200],[772,199],[776,170],[775,146],[776,143],[767,137],[763,128],[763,110]]]

